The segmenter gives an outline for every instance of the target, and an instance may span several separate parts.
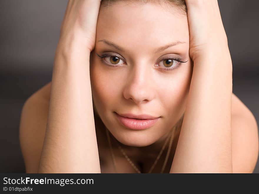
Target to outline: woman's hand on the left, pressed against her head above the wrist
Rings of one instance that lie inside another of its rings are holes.
[[[69,0],[60,29],[60,41],[67,45],[76,40],[94,49],[101,0]]]

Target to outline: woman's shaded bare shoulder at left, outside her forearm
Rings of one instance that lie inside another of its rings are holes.
[[[19,140],[26,173],[37,173],[49,112],[51,82],[32,94],[21,111]]]

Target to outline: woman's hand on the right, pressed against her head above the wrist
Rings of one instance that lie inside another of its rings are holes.
[[[206,55],[229,55],[228,40],[217,0],[185,0],[192,61]],[[227,52],[226,52],[227,51]],[[228,56],[228,57],[229,57]]]

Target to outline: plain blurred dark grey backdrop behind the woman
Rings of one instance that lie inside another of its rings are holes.
[[[23,173],[19,122],[25,100],[52,79],[67,0],[0,0],[0,172]],[[233,61],[233,93],[259,123],[259,1],[218,0]],[[259,173],[259,162],[254,173]]]

